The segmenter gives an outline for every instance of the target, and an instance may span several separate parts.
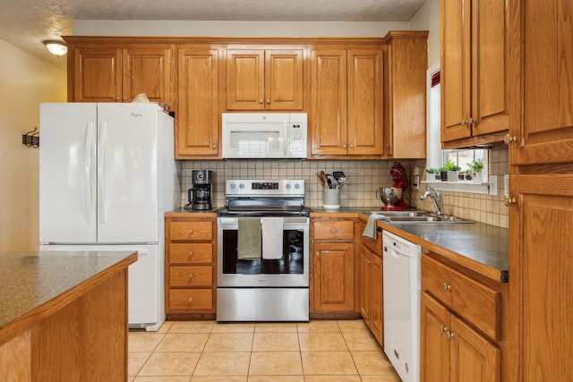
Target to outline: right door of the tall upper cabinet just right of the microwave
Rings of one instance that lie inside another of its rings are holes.
[[[382,154],[382,52],[348,51],[348,155]]]

